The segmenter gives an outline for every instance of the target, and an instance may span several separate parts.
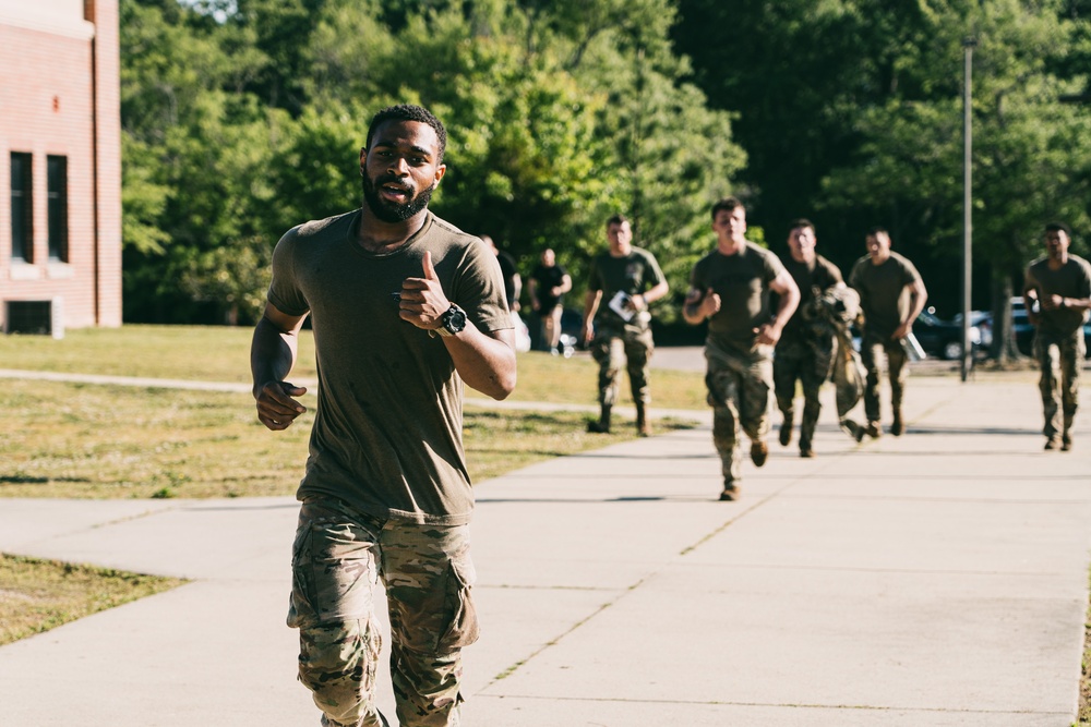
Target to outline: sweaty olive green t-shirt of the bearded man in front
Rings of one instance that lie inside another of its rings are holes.
[[[273,253],[268,300],[310,313],[319,403],[297,497],[340,499],[376,518],[469,521],[473,494],[463,450],[463,381],[439,336],[398,317],[405,278],[423,277],[424,251],[443,292],[484,331],[512,327],[495,255],[429,214],[398,250],[357,241],[360,211],[289,230]]]

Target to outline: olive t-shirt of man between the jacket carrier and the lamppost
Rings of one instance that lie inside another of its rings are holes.
[[[852,266],[849,284],[860,293],[864,313],[864,336],[889,340],[910,312],[907,286],[921,280],[921,274],[908,258],[896,252],[882,265],[864,255]]]

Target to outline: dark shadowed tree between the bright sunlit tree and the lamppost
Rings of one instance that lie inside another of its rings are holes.
[[[735,114],[747,166],[739,196],[751,225],[780,244],[792,219],[817,225],[823,253],[842,266],[863,252],[866,214],[815,203],[830,169],[861,143],[859,114],[904,89],[916,2],[679,0],[672,37],[692,59],[709,106]],[[730,41],[724,41],[730,37]]]

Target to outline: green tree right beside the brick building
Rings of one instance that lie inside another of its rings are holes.
[[[252,204],[268,196],[276,114],[226,90],[253,54],[238,44],[228,53],[227,28],[176,3],[123,0],[120,11],[125,318],[253,319],[253,276],[232,251],[245,258],[264,232]]]

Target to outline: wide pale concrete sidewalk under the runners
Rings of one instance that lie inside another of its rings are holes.
[[[906,436],[772,444],[738,502],[707,425],[481,483],[465,724],[1067,727],[1091,414],[1043,452],[1017,378],[913,377]],[[316,725],[284,626],[296,511],[0,501],[0,550],[193,579],[0,649],[0,725]]]

